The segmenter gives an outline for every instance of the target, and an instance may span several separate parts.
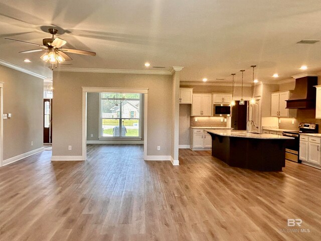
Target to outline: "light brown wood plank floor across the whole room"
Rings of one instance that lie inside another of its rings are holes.
[[[231,168],[206,151],[180,150],[180,166],[142,155],[140,145],[88,145],[86,162],[44,151],[0,168],[0,240],[321,240],[321,170]]]

